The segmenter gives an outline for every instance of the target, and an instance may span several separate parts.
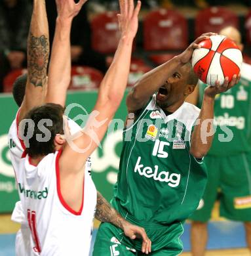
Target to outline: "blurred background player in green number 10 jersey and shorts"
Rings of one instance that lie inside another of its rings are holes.
[[[233,27],[221,35],[229,37],[242,51],[241,33]],[[199,86],[187,101],[201,106],[204,89]],[[251,66],[243,63],[237,86],[216,95],[214,123],[217,125],[212,147],[204,161],[208,168],[208,184],[197,211],[191,216],[191,245],[194,256],[204,255],[209,221],[220,188],[220,215],[243,221],[246,242],[251,249]],[[224,129],[224,127],[226,127]],[[229,134],[229,130],[231,133]],[[220,142],[220,138],[224,138]]]

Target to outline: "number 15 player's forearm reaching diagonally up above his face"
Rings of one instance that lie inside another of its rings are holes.
[[[153,93],[164,85],[168,77],[170,77],[180,65],[183,65],[182,62],[180,62],[180,57],[176,56],[172,58],[172,60],[168,60],[168,62],[144,74],[135,84],[132,93],[130,93],[129,100],[138,103],[138,105],[141,105],[142,102],[147,102]],[[130,104],[130,102],[128,103]]]

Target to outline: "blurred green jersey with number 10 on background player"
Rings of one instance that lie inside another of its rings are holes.
[[[199,105],[207,85],[199,85]],[[214,103],[216,133],[209,155],[229,156],[251,150],[251,66],[243,63],[241,80]]]

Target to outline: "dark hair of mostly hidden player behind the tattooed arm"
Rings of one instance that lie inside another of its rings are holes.
[[[21,106],[24,95],[26,93],[26,83],[27,83],[28,75],[22,74],[13,83],[12,87],[12,94],[14,97],[14,100],[18,106]]]

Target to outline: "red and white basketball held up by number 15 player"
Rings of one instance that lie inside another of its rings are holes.
[[[219,81],[222,85],[225,77],[231,81],[233,75],[240,73],[242,54],[231,39],[212,35],[199,45],[201,48],[193,51],[192,66],[203,83],[214,86]]]

